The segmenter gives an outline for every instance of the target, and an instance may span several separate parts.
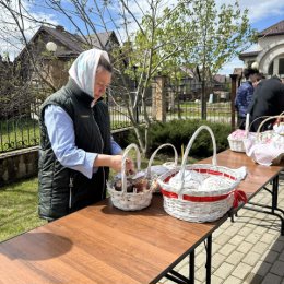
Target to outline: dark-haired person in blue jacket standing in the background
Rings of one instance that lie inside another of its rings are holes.
[[[245,129],[248,107],[250,105],[255,91],[252,83],[255,83],[255,81],[257,80],[256,74],[258,73],[259,71],[257,69],[245,69],[244,75],[246,78],[246,82],[244,82],[237,90],[235,98],[235,108],[238,111],[239,129]]]

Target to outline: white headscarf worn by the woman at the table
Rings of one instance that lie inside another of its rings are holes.
[[[69,75],[76,82],[78,86],[92,97],[94,97],[96,69],[100,56],[104,56],[109,62],[106,51],[93,48],[80,54],[69,69]]]

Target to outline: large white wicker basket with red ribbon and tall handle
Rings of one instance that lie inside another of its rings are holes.
[[[214,152],[212,165],[186,166],[189,150],[201,130],[208,130],[212,138]],[[188,181],[187,177],[189,177]],[[173,178],[176,178],[176,185],[170,184]],[[162,188],[165,211],[174,217],[189,222],[215,221],[233,205],[237,206],[238,201],[246,202],[246,194],[235,189],[241,180],[236,170],[217,166],[216,142],[208,126],[201,126],[191,137],[185,151],[181,167],[168,170],[157,180]],[[217,181],[217,186],[214,186],[215,181]]]

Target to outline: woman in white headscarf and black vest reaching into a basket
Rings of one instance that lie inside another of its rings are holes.
[[[40,107],[39,216],[52,221],[105,198],[109,167],[122,150],[110,134],[103,94],[111,80],[107,52],[82,52],[69,82]],[[133,168],[129,163],[127,170]]]

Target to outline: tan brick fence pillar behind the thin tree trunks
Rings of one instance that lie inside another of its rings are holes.
[[[152,116],[154,119],[166,122],[166,76],[158,75],[155,78],[155,87],[152,98]]]

